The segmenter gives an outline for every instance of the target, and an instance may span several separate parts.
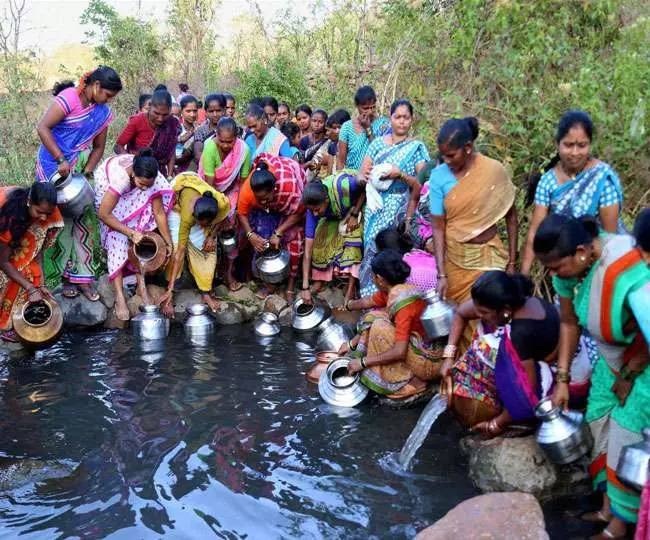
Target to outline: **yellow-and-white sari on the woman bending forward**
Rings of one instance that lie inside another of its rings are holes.
[[[201,293],[206,294],[212,290],[214,274],[217,270],[217,251],[203,251],[206,238],[212,234],[214,228],[228,218],[230,203],[228,199],[214,187],[203,180],[194,172],[181,173],[172,182],[172,189],[176,193],[176,203],[170,212],[167,222],[174,242],[174,250],[185,249],[188,268]],[[201,227],[194,218],[194,199],[199,195],[209,192],[217,201],[218,211],[208,227]],[[183,260],[183,264],[185,260]],[[167,265],[167,279],[171,277],[173,259]],[[183,267],[179,269],[179,272]],[[180,274],[179,274],[180,275]]]

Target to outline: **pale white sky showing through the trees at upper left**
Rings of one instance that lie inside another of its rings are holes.
[[[6,9],[9,0],[0,0],[0,13]],[[143,18],[163,23],[169,8],[167,0],[107,0],[122,15],[136,15],[138,7]],[[85,39],[85,28],[79,23],[81,14],[88,5],[87,0],[27,0],[25,32],[21,47],[37,49],[45,54],[51,53],[61,45],[81,43]],[[267,21],[273,20],[280,9],[291,5],[292,9],[302,10],[306,1],[259,0],[259,5]],[[229,18],[249,11],[247,0],[222,0],[221,10]],[[227,35],[220,28],[219,34]]]

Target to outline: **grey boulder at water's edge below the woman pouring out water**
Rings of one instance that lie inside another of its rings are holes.
[[[533,435],[465,437],[461,450],[469,455],[469,477],[482,491],[523,491],[546,500],[589,489],[589,475],[582,464],[562,468],[553,465]]]

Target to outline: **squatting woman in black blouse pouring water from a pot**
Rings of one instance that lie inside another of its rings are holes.
[[[491,270],[472,286],[452,322],[441,393],[461,423],[498,435],[512,422],[534,420],[534,407],[553,382],[547,362],[560,337],[555,306],[535,298],[522,275]],[[455,362],[468,321],[480,321],[471,346]]]

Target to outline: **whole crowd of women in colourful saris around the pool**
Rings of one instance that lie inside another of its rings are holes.
[[[535,207],[517,274],[515,188],[506,168],[477,150],[475,118],[443,124],[434,160],[411,135],[411,103],[397,100],[381,116],[367,86],[355,95],[353,116],[300,105],[292,118],[286,103],[266,97],[248,106],[243,127],[233,118],[234,97],[210,94],[200,103],[184,93],[176,118],[163,87],[141,100],[115,155],[101,162],[109,103],[121,89],[109,67],[55,88],[38,124],[37,182],[0,191],[4,339],[16,338],[15,307],[51,296],[48,286],[63,283],[66,296],[97,301],[103,256],[115,314],[128,320],[124,277],[136,274],[145,287],[128,250],[153,231],[169,259],[167,289],[157,299],[169,316],[185,266],[216,310],[216,277],[235,291],[256,257],[282,247],[290,255],[288,300],[296,281],[313,302],[337,280],[345,287],[341,309],[364,311],[340,353],[388,399],[417,398],[440,380],[465,425],[496,435],[531,422],[545,396],[566,405],[588,393],[591,471],[605,495],[584,518],[606,524],[597,538],[625,534],[639,498],[616,479],[616,461],[650,425],[643,309],[650,210],[634,236],[626,234],[621,183],[592,155],[586,113],[562,116],[557,158],[531,183]],[[56,207],[53,182],[73,172],[94,177],[96,198],[94,208],[69,219]],[[223,261],[220,235],[238,239]],[[536,258],[553,276],[559,309],[533,294],[527,275]],[[457,306],[451,334],[437,341],[420,320],[423,293],[433,288]]]

